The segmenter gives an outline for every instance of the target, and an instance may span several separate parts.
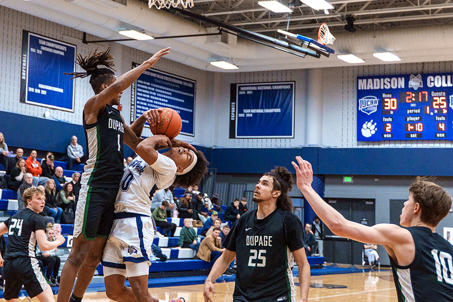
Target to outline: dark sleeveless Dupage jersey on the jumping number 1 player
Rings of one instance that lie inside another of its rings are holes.
[[[83,117],[88,160],[81,184],[118,188],[124,169],[124,125],[120,112],[105,105],[105,111],[96,123],[87,124],[85,112]]]

